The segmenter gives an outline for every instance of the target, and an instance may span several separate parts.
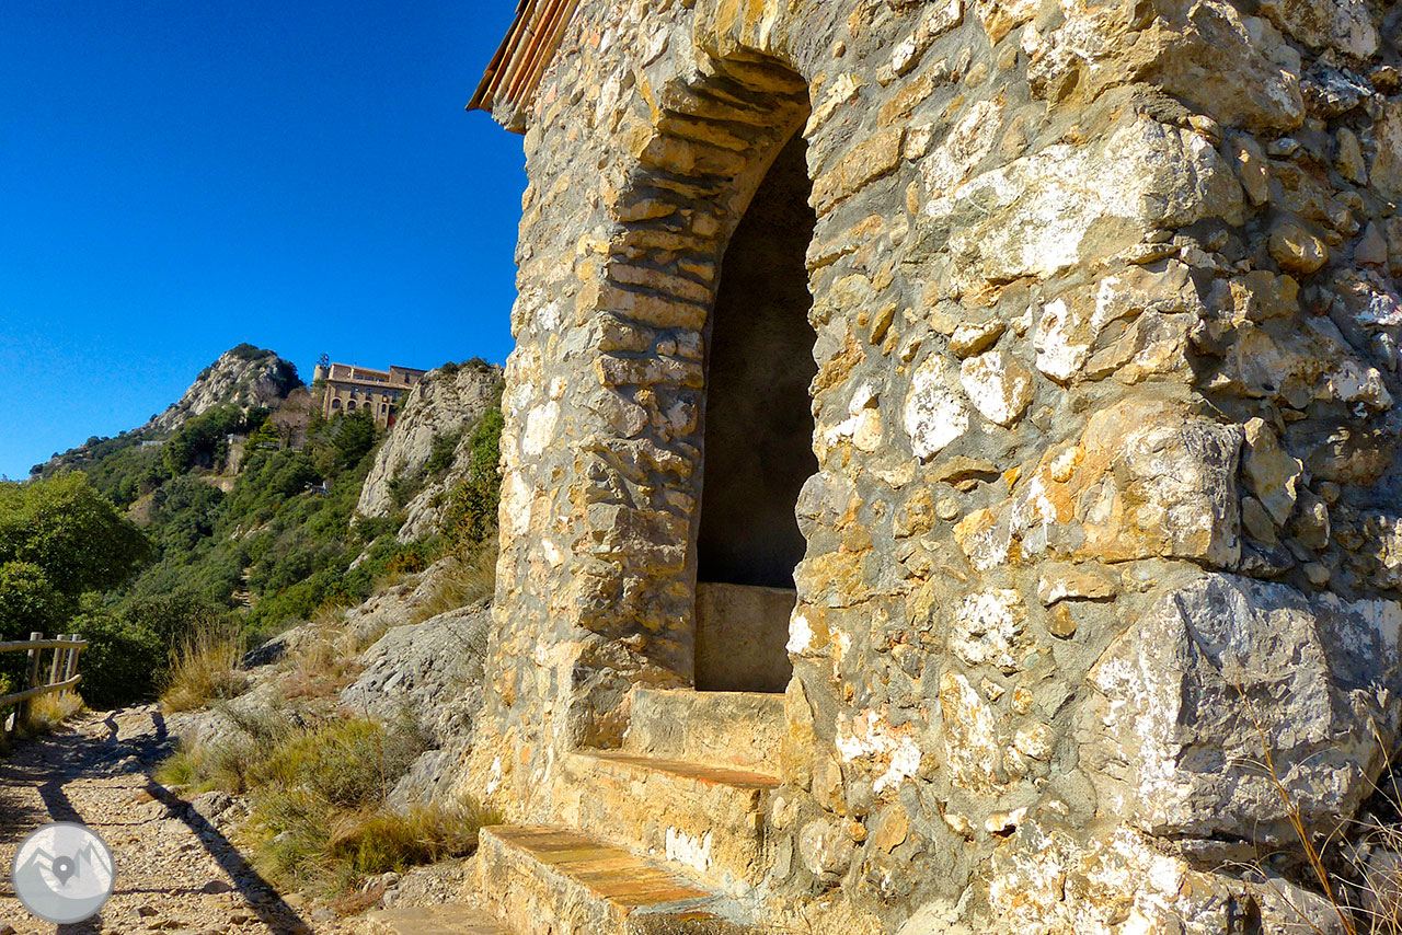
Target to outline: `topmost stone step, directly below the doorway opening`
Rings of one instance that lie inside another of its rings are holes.
[[[778,775],[784,695],[638,688],[622,749],[663,760],[716,763]]]

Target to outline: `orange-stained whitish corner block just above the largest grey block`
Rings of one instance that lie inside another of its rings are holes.
[[[1022,554],[1126,561],[1239,555],[1237,460],[1242,432],[1172,404],[1126,400],[1050,449],[1018,485],[1011,535]]]

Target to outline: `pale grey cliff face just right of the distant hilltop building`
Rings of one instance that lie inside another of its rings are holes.
[[[456,373],[432,371],[416,385],[380,446],[360,488],[360,516],[405,516],[400,538],[433,531],[447,493],[467,477],[471,429],[498,404],[502,369],[464,364]],[[451,453],[451,457],[446,457]]]

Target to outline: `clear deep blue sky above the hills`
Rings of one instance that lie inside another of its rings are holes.
[[[463,107],[515,7],[0,4],[0,474],[241,341],[505,360],[522,139]]]

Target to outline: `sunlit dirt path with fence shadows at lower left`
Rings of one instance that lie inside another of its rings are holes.
[[[279,896],[220,831],[222,817],[202,816],[212,810],[151,778],[172,746],[160,709],[147,705],[84,715],[0,760],[0,935],[343,931]],[[116,890],[87,922],[41,922],[10,885],[15,847],[50,821],[83,821],[112,849]]]

